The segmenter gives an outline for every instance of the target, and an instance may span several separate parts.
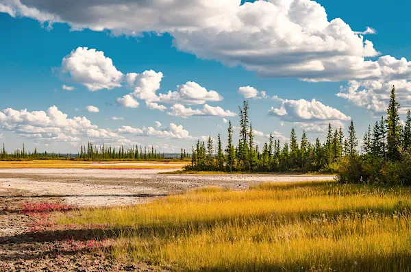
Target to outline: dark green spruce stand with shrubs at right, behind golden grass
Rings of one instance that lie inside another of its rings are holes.
[[[211,136],[207,143],[198,141],[186,170],[338,173],[340,182],[411,185],[411,114],[408,110],[405,125],[401,125],[399,110],[393,87],[386,118],[369,127],[361,147],[353,121],[346,134],[342,127],[329,124],[325,143],[319,138],[310,142],[306,132],[298,139],[292,128],[289,143],[282,144],[270,135],[269,142],[258,147],[253,140],[249,103],[244,101],[238,108],[238,143],[233,143],[230,121],[227,146],[223,147],[220,134],[215,154]]]

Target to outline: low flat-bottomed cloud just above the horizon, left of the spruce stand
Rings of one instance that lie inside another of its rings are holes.
[[[168,139],[186,139],[195,140],[196,137],[190,136],[188,130],[184,129],[182,125],[176,125],[175,123],[170,123],[168,127],[160,128],[158,125],[161,123],[156,122],[156,127],[130,127],[123,126],[117,129],[117,132],[121,134],[134,134],[135,136],[152,136],[156,138],[168,138]],[[202,136],[201,136],[202,137]]]

